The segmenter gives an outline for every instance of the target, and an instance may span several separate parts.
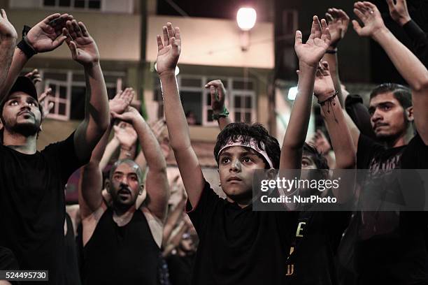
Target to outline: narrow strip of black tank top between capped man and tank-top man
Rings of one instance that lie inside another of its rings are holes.
[[[78,255],[76,241],[74,240],[74,228],[69,214],[66,212],[67,233],[65,235],[66,245],[66,284],[80,285],[78,268]]]

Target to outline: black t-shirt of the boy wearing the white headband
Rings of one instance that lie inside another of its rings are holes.
[[[299,212],[253,212],[220,198],[208,182],[186,210],[199,235],[192,284],[284,284]]]

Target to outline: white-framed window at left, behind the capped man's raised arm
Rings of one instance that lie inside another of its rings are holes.
[[[50,102],[54,107],[48,118],[82,120],[85,117],[86,84],[83,71],[41,70],[45,89],[52,88]],[[108,98],[113,98],[122,89],[124,73],[104,73]]]

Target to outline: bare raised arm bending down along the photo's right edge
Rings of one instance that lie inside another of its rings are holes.
[[[354,13],[362,20],[361,27],[352,20],[359,36],[371,36],[390,57],[395,68],[412,89],[413,116],[420,137],[428,145],[428,71],[408,48],[383,23],[378,8],[370,2],[357,2]]]

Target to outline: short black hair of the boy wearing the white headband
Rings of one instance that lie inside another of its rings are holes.
[[[257,146],[260,149],[264,149],[271,159],[273,168],[278,169],[280,163],[281,149],[278,140],[273,136],[269,135],[268,131],[262,124],[245,124],[245,123],[231,123],[228,124],[217,136],[217,142],[214,147],[214,157],[219,164],[219,152],[224,145],[229,141],[237,142],[243,139],[243,143],[248,143],[250,139],[257,142]],[[262,143],[264,147],[262,147]],[[269,163],[262,157],[266,168],[269,169]]]

